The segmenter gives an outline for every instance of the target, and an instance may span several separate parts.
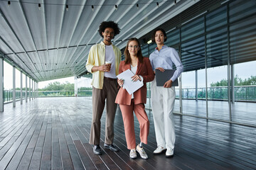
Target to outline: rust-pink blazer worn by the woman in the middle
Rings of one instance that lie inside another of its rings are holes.
[[[131,64],[125,64],[124,61],[120,62],[119,74],[127,69],[131,69]],[[154,72],[149,58],[143,57],[143,63],[138,61],[136,74],[143,77],[144,85],[134,92],[134,104],[146,103],[146,82],[154,80]],[[118,91],[115,103],[131,105],[131,101],[132,94],[129,95],[127,90],[121,87]]]

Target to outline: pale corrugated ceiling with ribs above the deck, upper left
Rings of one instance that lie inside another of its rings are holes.
[[[119,23],[121,33],[113,42],[122,49],[127,39],[142,38],[196,3],[198,0],[176,4],[174,0],[14,0],[9,5],[1,0],[0,52],[36,81],[79,76],[86,71],[91,45],[102,40],[97,33],[102,21]]]

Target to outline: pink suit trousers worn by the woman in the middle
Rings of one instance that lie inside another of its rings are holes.
[[[133,111],[139,121],[140,140],[144,144],[147,144],[147,137],[149,135],[149,119],[145,112],[144,103],[134,104],[134,99],[132,99],[131,105],[119,104],[119,107],[122,111],[122,117],[124,120],[124,132],[127,140],[127,148],[136,148]]]

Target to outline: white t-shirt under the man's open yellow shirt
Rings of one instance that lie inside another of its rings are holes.
[[[112,79],[117,79],[117,75],[115,73],[115,56],[112,45],[106,45],[106,53],[105,53],[105,62],[111,62],[110,72],[104,72],[104,77],[110,77]]]

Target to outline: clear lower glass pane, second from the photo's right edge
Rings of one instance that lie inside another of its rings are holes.
[[[228,67],[207,69],[208,117],[229,120]]]

